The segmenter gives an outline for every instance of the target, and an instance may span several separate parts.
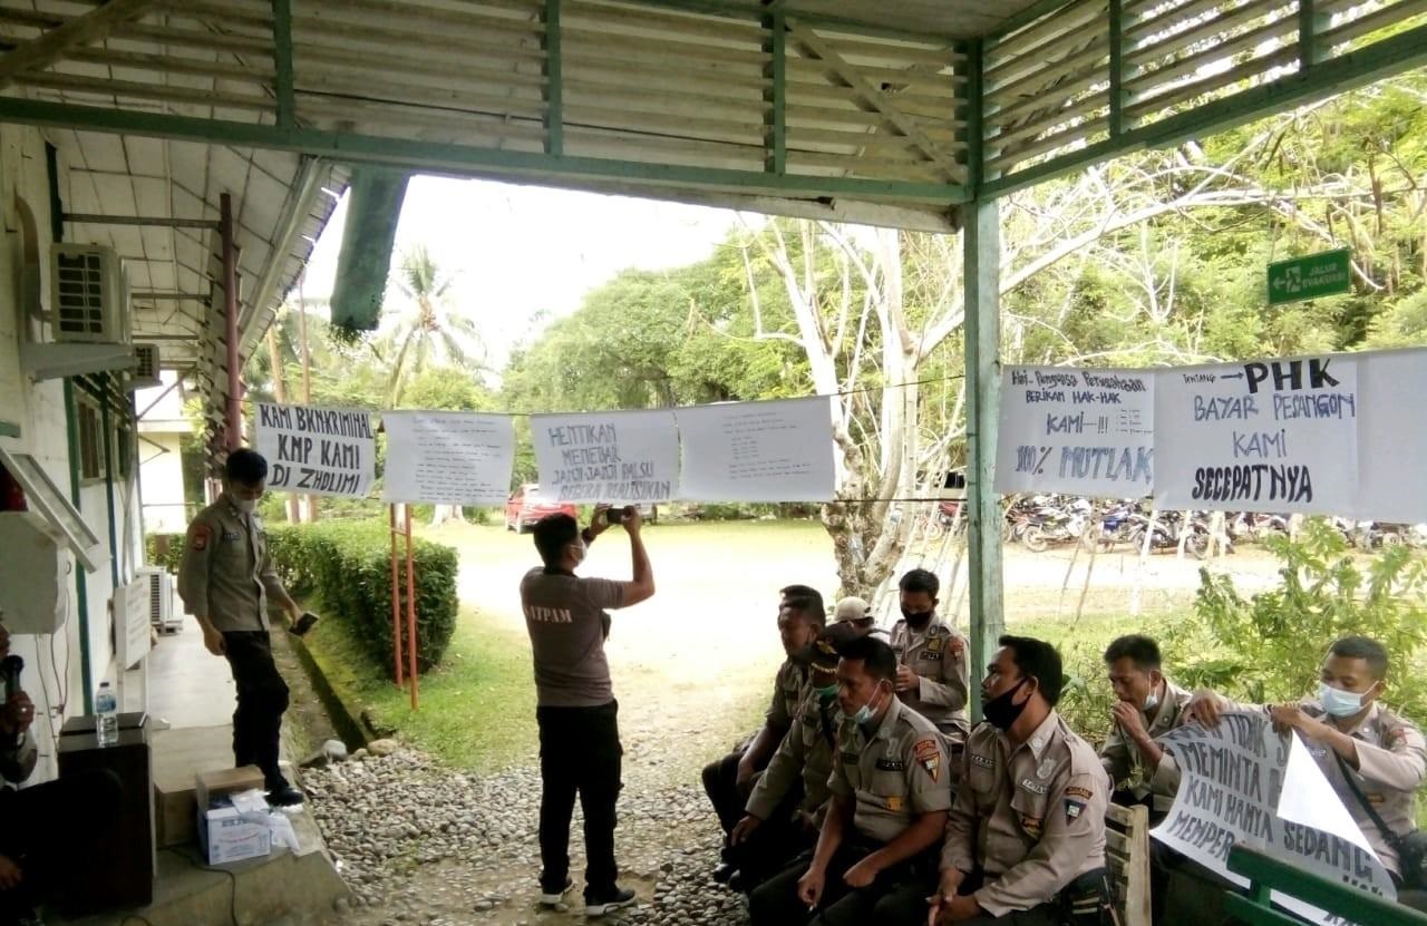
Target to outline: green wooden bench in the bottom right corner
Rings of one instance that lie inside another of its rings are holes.
[[[1259,849],[1234,846],[1229,870],[1249,879],[1249,893],[1226,892],[1224,912],[1249,926],[1301,926],[1299,917],[1273,909],[1273,890],[1364,926],[1427,926],[1427,913],[1294,868]]]

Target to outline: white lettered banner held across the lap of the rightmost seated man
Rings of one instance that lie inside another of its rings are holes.
[[[1276,733],[1264,713],[1229,712],[1219,726],[1182,726],[1159,742],[1173,753],[1182,778],[1174,806],[1150,833],[1154,839],[1240,886],[1247,882],[1229,872],[1234,845],[1261,849],[1368,893],[1397,897],[1386,869],[1363,848],[1361,832],[1356,838],[1339,835],[1346,809],[1326,779],[1321,788],[1311,788],[1313,803],[1297,808],[1303,819],[1279,815],[1287,788],[1303,786],[1310,772],[1320,779],[1323,773],[1310,760],[1307,769],[1296,765],[1303,778],[1287,779],[1293,741]],[[1351,818],[1347,826],[1356,829]],[[1349,922],[1279,893],[1274,900],[1313,923]]]

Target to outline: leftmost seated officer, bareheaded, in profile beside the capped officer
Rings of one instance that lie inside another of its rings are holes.
[[[768,705],[763,726],[748,741],[716,762],[704,766],[704,792],[714,805],[725,835],[743,818],[743,805],[758,775],[768,766],[773,752],[793,725],[799,706],[808,693],[808,648],[826,622],[822,595],[806,585],[782,589],[778,605],[778,635],[788,656],[773,676],[773,696]],[[714,880],[728,882],[738,872],[732,846],[723,840],[722,863],[714,870]]]

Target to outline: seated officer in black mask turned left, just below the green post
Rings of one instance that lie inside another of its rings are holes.
[[[1109,780],[1095,749],[1056,713],[1060,686],[1053,646],[1000,638],[982,682],[986,723],[966,741],[946,823],[940,883],[932,892],[936,922],[1110,922]],[[915,913],[909,905],[900,915]],[[925,903],[920,915],[925,922]]]

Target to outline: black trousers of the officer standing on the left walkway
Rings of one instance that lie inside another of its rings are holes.
[[[263,769],[268,790],[285,788],[278,768],[278,738],[287,711],[287,682],[273,662],[273,639],[267,631],[223,635],[224,655],[238,688],[238,709],[233,712],[233,760],[237,766]]]

